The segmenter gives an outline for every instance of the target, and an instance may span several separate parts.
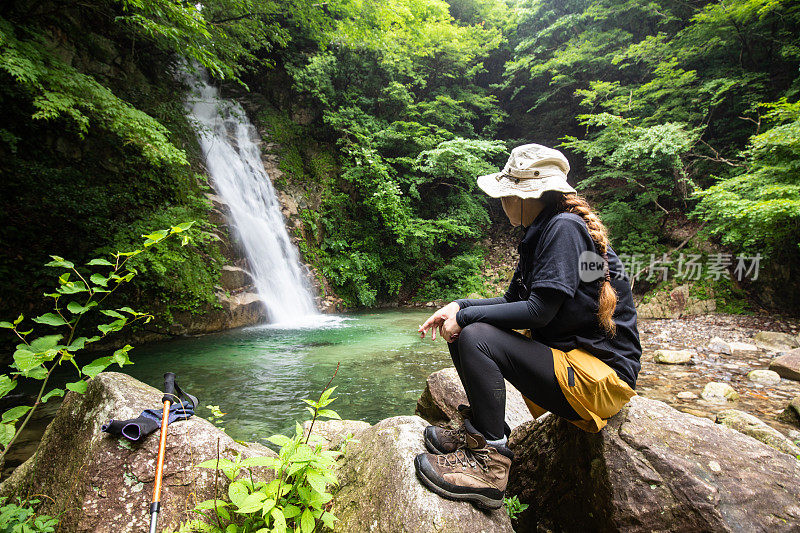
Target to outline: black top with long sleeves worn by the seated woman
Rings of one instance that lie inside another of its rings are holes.
[[[602,268],[599,272],[593,268],[599,257],[596,251],[583,218],[547,206],[526,228],[519,264],[505,295],[456,300],[461,308],[458,325],[486,322],[503,329],[530,328],[535,339],[553,348],[588,351],[635,389],[642,347],[630,280],[609,246],[611,285],[617,293],[616,334],[611,336],[597,319],[603,273]]]

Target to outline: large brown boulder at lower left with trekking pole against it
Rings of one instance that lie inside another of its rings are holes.
[[[110,418],[125,420],[144,409],[157,409],[161,396],[128,375],[98,374],[84,394],[66,395],[36,453],[0,485],[0,496],[45,495],[38,497],[40,512],[60,516],[62,532],[146,531],[160,432],[134,444],[102,433],[100,426]],[[260,444],[238,444],[196,416],[171,424],[159,527],[177,529],[181,521],[197,518],[191,511],[197,502],[213,498],[215,492],[227,494],[225,476],[193,468],[216,458],[217,449],[228,459],[237,454],[275,455]]]

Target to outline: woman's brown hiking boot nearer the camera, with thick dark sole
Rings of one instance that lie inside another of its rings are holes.
[[[507,446],[490,446],[464,422],[466,446],[452,453],[421,453],[414,459],[417,477],[428,489],[449,500],[468,501],[483,509],[503,506],[508,471],[514,454]]]

